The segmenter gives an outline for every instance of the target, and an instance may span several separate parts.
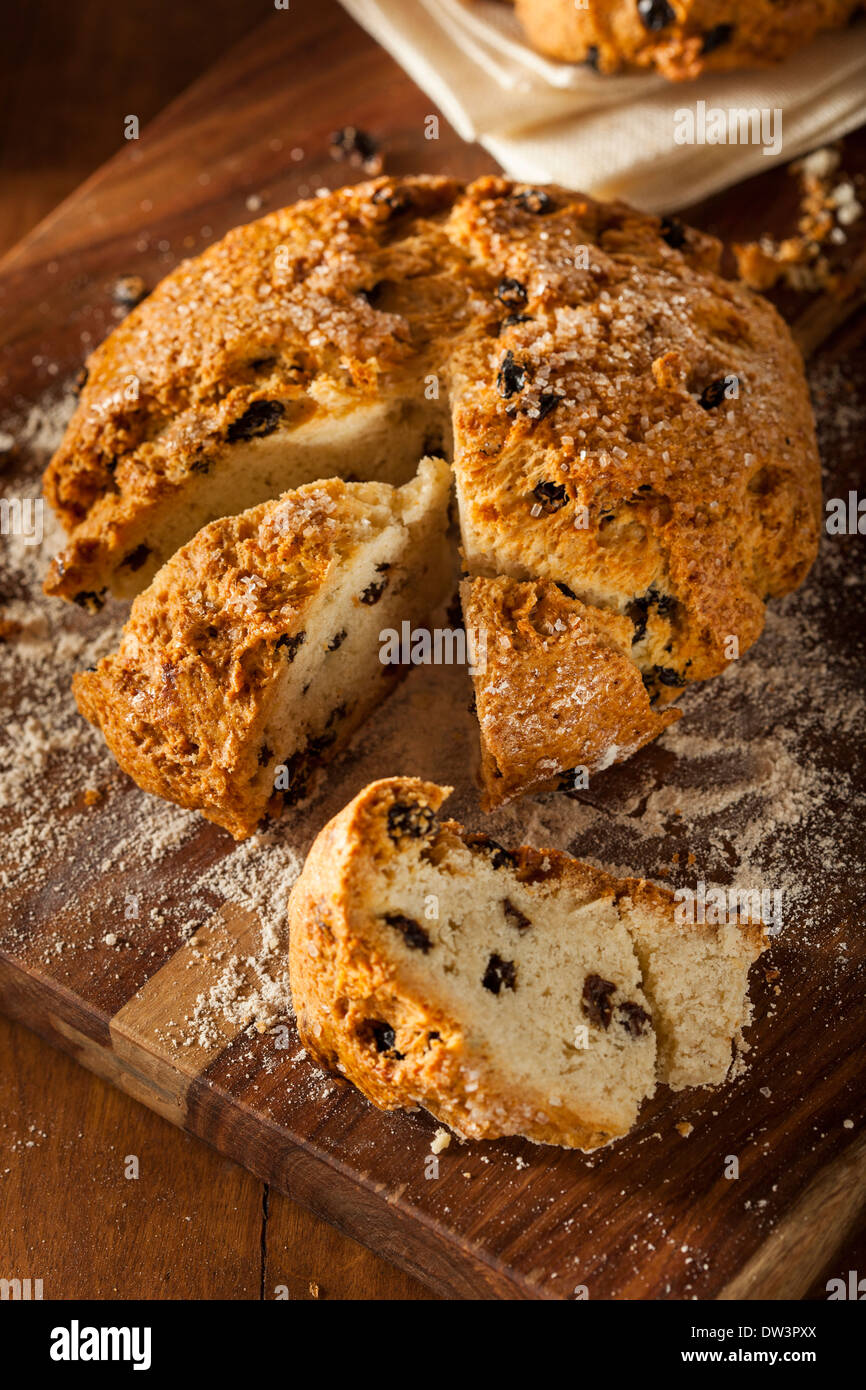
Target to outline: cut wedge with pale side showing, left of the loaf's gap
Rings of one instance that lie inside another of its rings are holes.
[[[381,630],[446,592],[449,486],[430,459],[402,488],[332,478],[204,527],[75,677],[121,767],[238,840],[303,799],[392,689]]]

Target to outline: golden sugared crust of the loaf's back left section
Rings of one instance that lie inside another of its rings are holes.
[[[133,581],[147,518],[274,417],[291,432],[439,367],[474,281],[441,229],[459,189],[339,189],[235,228],[161,281],[89,357],[46,471],[71,534],[46,591],[99,600],[115,573]]]

